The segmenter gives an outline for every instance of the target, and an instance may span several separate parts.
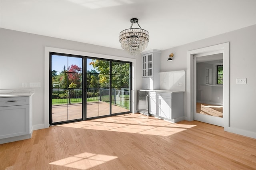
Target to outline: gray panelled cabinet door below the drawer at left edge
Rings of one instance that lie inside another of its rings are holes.
[[[0,107],[0,139],[29,134],[28,105]]]

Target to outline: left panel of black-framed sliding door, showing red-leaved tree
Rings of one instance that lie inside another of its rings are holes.
[[[82,57],[51,53],[50,125],[82,120]]]

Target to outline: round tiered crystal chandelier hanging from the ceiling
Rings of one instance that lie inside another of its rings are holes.
[[[131,23],[132,25],[137,23],[140,27],[137,18],[132,18]],[[132,25],[129,29],[120,32],[119,42],[124,50],[135,56],[138,53],[141,53],[148,46],[149,33],[141,27],[132,28]]]

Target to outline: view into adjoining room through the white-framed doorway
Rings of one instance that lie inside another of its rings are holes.
[[[196,57],[196,113],[223,117],[223,53]]]

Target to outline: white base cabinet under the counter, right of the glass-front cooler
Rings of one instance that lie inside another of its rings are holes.
[[[150,92],[150,113],[171,122],[184,120],[184,93]]]

